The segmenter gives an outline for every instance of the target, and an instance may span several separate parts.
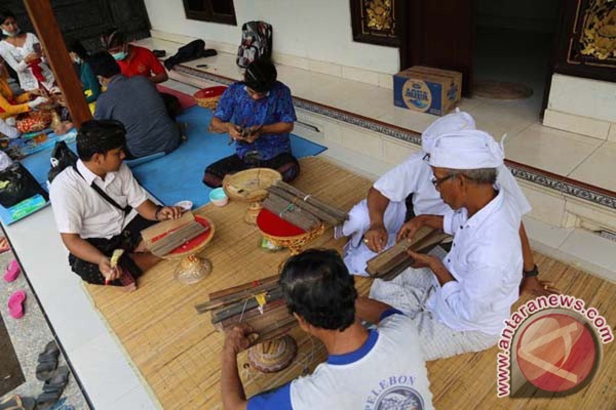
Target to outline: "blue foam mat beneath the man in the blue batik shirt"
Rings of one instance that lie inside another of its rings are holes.
[[[188,125],[188,141],[170,154],[132,168],[137,180],[158,200],[173,205],[180,200],[191,200],[195,208],[209,202],[211,189],[203,184],[205,168],[233,154],[229,135],[208,132],[212,111],[194,106],[177,118]],[[297,158],[315,156],[325,147],[291,135],[291,152]]]

